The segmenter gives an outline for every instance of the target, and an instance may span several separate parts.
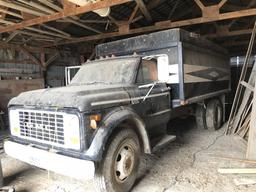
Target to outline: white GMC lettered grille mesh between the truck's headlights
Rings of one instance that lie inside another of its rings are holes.
[[[20,135],[45,141],[49,144],[65,144],[63,115],[53,112],[19,111]]]

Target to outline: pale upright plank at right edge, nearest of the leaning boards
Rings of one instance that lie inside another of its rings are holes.
[[[254,87],[254,96],[246,158],[250,160],[256,160],[256,86]]]

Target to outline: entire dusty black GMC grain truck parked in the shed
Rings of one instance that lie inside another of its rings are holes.
[[[70,84],[9,103],[8,155],[99,191],[129,191],[141,153],[175,139],[167,123],[187,113],[216,130],[230,89],[226,50],[181,29],[98,45]],[[154,142],[152,142],[154,141]]]

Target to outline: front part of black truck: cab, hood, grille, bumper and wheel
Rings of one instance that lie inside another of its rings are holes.
[[[151,153],[151,138],[170,118],[166,67],[165,55],[105,58],[85,63],[66,87],[20,94],[9,103],[6,153],[78,179],[95,176],[107,190],[130,190],[140,153]]]

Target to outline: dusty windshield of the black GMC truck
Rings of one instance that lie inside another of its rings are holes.
[[[109,59],[84,64],[71,85],[130,83],[135,75],[138,57]]]

